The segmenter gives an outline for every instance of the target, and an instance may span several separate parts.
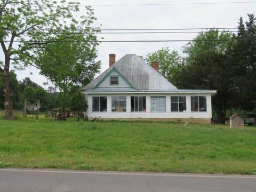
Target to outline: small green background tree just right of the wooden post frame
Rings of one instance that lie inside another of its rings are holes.
[[[43,87],[36,89],[35,98],[40,100],[41,111],[47,111],[50,109],[50,96],[49,93],[43,89]]]

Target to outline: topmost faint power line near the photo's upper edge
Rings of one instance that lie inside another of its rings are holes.
[[[212,4],[248,4],[256,2],[208,2],[208,3],[155,3],[155,4],[105,4],[105,5],[79,5],[92,7],[106,7],[106,6],[163,6],[163,5],[212,5]]]

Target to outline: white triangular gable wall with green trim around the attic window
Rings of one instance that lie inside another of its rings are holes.
[[[110,77],[118,77],[118,84],[117,85],[110,85]],[[135,90],[135,87],[127,81],[127,79],[119,73],[116,68],[113,68],[109,71],[109,73],[101,79],[101,81],[94,86],[93,89],[101,89],[101,90]]]

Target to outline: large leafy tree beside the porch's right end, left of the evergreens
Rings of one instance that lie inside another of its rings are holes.
[[[205,39],[213,41],[203,41]],[[233,106],[230,83],[234,66],[230,65],[226,54],[230,41],[219,41],[222,39],[231,39],[231,33],[211,29],[199,34],[196,41],[184,47],[186,65],[174,77],[180,89],[217,90],[212,102],[218,122],[225,121],[227,110]]]

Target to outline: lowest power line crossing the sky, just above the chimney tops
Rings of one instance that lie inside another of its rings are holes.
[[[177,40],[129,40],[129,41],[13,41],[28,43],[134,43],[134,42],[214,42],[214,41],[254,41],[254,38],[241,39],[177,39]],[[4,41],[11,42],[11,41]]]

